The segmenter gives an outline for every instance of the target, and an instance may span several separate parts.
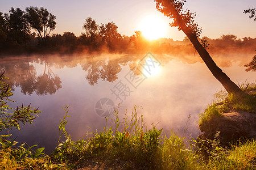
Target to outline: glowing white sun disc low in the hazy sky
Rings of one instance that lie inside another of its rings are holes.
[[[139,24],[139,31],[146,39],[156,40],[166,36],[167,24],[157,15],[147,15]]]

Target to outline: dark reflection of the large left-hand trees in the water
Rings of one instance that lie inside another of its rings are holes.
[[[48,63],[45,64],[44,73],[36,76],[35,67],[31,62],[34,60],[13,59],[0,64],[0,73],[5,71],[6,76],[9,77],[6,82],[12,90],[15,86],[19,86],[24,95],[31,95],[34,91],[37,95],[47,95],[54,94],[61,88],[59,76],[53,73]]]

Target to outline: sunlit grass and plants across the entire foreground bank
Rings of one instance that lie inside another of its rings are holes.
[[[170,137],[161,135],[154,124],[147,130],[143,115],[135,106],[130,116],[125,113],[122,121],[115,110],[113,120],[106,118],[104,130],[88,134],[88,139],[72,141],[65,130],[68,107],[59,125],[60,142],[51,155],[43,154],[43,148],[21,145],[12,148],[14,142],[1,139],[0,169],[254,169],[256,142],[248,140],[231,148],[221,147],[218,134],[214,140],[192,140],[185,147],[184,140],[171,131]],[[108,127],[107,124],[110,124]],[[203,145],[210,143],[210,147]],[[200,146],[201,145],[201,146]],[[200,147],[199,147],[200,146]],[[204,147],[202,147],[204,146]],[[203,156],[207,152],[208,159]]]

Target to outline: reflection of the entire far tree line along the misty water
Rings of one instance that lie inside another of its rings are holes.
[[[198,56],[193,55],[156,55],[161,66],[167,65],[172,59],[181,61],[183,63],[193,64],[199,62]],[[86,71],[86,80],[91,86],[94,86],[98,81],[104,80],[114,82],[118,79],[118,73],[121,72],[122,67],[129,66],[129,69],[134,71],[136,75],[141,74],[143,68],[139,65],[139,61],[144,57],[144,54],[127,54],[127,55],[109,55],[105,56],[61,56],[52,57],[44,56],[37,59],[32,58],[18,58],[18,59],[1,59],[0,73],[6,71],[6,76],[10,79],[7,83],[14,90],[14,87],[20,87],[21,92],[26,95],[31,95],[34,91],[37,95],[55,94],[61,88],[61,80],[59,76],[53,73],[52,66],[55,68],[72,68],[81,65],[82,70]],[[248,63],[251,58],[247,57],[246,61],[241,61],[241,56],[234,58],[234,61]],[[232,60],[229,56],[216,56],[216,62],[222,67],[229,67],[232,65]],[[246,56],[243,57],[246,59]],[[36,75],[33,62],[44,65],[42,74]],[[200,61],[201,62],[201,61]]]

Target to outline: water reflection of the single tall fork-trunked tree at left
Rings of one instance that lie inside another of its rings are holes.
[[[61,88],[61,80],[56,76],[49,63],[44,66],[44,73],[39,75],[35,81],[35,90],[37,95],[55,94]]]

